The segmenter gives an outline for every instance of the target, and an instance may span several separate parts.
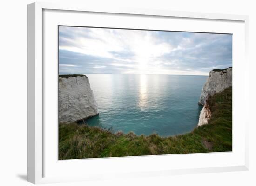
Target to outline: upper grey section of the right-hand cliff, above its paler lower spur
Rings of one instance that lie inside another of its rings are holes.
[[[232,67],[210,71],[209,77],[202,88],[199,104],[204,105],[209,96],[222,92],[230,86],[232,86]]]

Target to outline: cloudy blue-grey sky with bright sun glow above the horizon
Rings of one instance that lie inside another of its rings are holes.
[[[208,75],[232,66],[232,35],[59,26],[59,73]]]

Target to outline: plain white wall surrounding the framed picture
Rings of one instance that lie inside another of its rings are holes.
[[[61,2],[61,0],[45,0]],[[62,0],[63,1],[63,0]],[[70,0],[71,1],[71,0]],[[0,185],[27,182],[27,4],[33,0],[2,0],[0,4]],[[250,170],[152,177],[136,180],[61,183],[55,185],[255,185],[256,175],[256,11],[254,0],[72,0],[88,6],[117,6],[175,11],[244,14],[250,16]],[[50,184],[54,185],[54,184]]]

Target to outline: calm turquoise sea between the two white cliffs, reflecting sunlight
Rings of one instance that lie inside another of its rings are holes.
[[[89,118],[99,126],[137,135],[170,136],[197,126],[198,105],[207,76],[86,74],[98,103],[99,115]]]

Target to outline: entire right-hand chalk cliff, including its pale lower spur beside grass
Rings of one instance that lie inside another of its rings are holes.
[[[209,96],[222,92],[224,89],[230,86],[232,86],[232,67],[222,70],[214,69],[209,72],[209,77],[202,88],[199,99],[199,104],[202,104],[203,108],[200,112],[197,126],[208,124],[208,120],[211,117],[211,111],[207,104],[207,99]]]

